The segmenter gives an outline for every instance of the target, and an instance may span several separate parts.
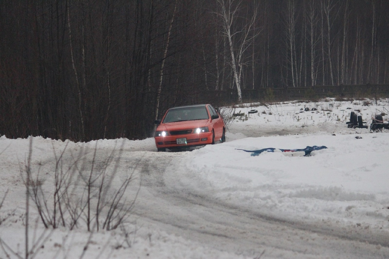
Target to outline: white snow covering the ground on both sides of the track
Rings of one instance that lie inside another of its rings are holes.
[[[375,114],[385,114],[387,121],[388,101],[326,99],[242,105],[235,112],[245,115],[236,117],[230,125],[225,143],[166,152],[174,153],[177,162],[164,169],[160,180],[169,190],[207,197],[272,219],[307,226],[328,222],[349,231],[363,229],[372,235],[379,233],[386,238],[384,243],[389,243],[389,132],[373,133],[346,125],[351,111],[362,115],[366,125],[370,125]],[[249,110],[258,112],[248,114]],[[163,153],[156,153],[153,138],[99,140],[97,157],[107,156],[122,144],[122,162],[117,167],[117,179],[112,181],[114,186],[123,181],[129,168],[137,172],[136,163],[132,164],[130,159],[135,154],[140,158],[156,154],[164,158]],[[313,145],[327,149],[313,151],[311,156],[292,152],[251,156],[238,150],[302,149]],[[65,146],[70,159],[86,148],[93,151],[96,141],[73,143],[33,138],[32,169],[35,173],[39,170],[43,186],[53,185],[54,152],[59,156]],[[0,225],[0,258],[7,258],[5,251],[11,258],[24,256],[25,187],[21,175],[25,174],[28,149],[28,139],[0,137],[0,198],[9,190],[0,208],[0,219],[5,219]],[[126,194],[130,199],[135,197],[137,186],[142,192],[140,178],[135,173]],[[93,234],[86,231],[84,223],[72,231],[61,227],[45,231],[31,201],[30,208],[30,249],[35,258],[247,258],[168,233],[163,226],[138,226],[134,221],[127,221],[126,228]],[[86,245],[88,248],[84,249]],[[380,245],[377,249],[381,249]],[[388,249],[382,247],[382,258]]]

